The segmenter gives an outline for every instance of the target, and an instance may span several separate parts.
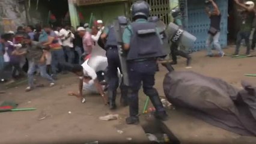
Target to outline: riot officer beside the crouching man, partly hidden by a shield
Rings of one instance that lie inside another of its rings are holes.
[[[114,24],[106,27],[103,31],[103,34],[100,36],[102,41],[106,39],[105,50],[106,57],[108,58],[108,99],[109,99],[109,108],[116,109],[115,98],[117,96],[117,88],[118,88],[118,69],[121,71],[121,64],[118,55],[117,48],[117,39],[115,36]],[[123,81],[123,80],[122,80]],[[121,99],[120,103],[123,106],[127,106],[127,86],[121,82]]]

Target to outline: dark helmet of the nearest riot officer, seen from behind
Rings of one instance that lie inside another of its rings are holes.
[[[132,4],[132,7],[130,8],[132,11],[132,18],[135,18],[136,16],[142,16],[142,17],[149,17],[150,15],[150,5],[145,1],[136,1]]]

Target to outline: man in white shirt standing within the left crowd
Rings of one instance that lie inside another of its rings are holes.
[[[61,35],[62,47],[68,58],[67,62],[72,64],[73,58],[75,57],[75,54],[72,50],[74,47],[73,40],[75,35],[70,31],[70,26],[67,25],[59,31],[59,35]]]

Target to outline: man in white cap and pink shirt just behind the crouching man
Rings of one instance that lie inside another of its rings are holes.
[[[82,38],[85,56],[90,55],[94,46],[93,38],[91,38],[90,32],[86,31],[83,27],[79,27],[78,35]]]

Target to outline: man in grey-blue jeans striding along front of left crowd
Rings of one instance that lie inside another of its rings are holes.
[[[49,74],[46,73],[46,59],[45,53],[43,52],[43,48],[47,46],[43,46],[41,43],[36,41],[32,41],[29,35],[24,37],[24,43],[26,44],[27,53],[26,58],[28,58],[28,87],[26,88],[26,92],[34,89],[34,72],[35,68],[38,67],[40,70],[41,77],[49,80],[50,87],[55,85],[54,80]]]

